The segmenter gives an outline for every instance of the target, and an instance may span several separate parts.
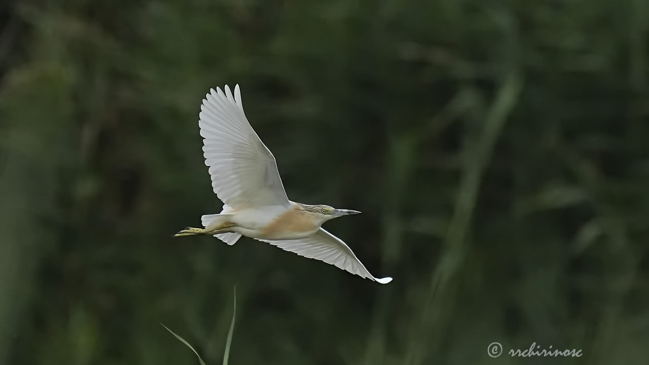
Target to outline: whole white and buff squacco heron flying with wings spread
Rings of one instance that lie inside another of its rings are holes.
[[[288,199],[275,157],[243,113],[239,85],[234,95],[227,85],[225,92],[210,89],[199,118],[205,164],[223,211],[202,216],[204,228],[188,227],[176,236],[211,234],[233,245],[243,235],[381,284],[392,280],[374,277],[345,242],[321,227],[328,220],[360,212]]]

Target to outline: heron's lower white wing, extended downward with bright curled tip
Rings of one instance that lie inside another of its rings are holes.
[[[306,238],[299,238],[297,240],[260,240],[268,242],[271,245],[276,245],[280,249],[297,253],[300,256],[307,258],[315,258],[316,260],[323,260],[327,264],[332,264],[347,270],[352,274],[359,275],[360,277],[376,281],[381,284],[387,284],[392,281],[391,277],[374,277],[363,264],[356,258],[352,249],[345,244],[340,238],[337,238],[331,233],[319,229],[316,233]]]

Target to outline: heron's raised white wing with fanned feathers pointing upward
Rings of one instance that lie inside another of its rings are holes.
[[[199,127],[205,164],[216,195],[235,210],[289,205],[275,157],[243,113],[239,85],[210,89],[201,105]]]

